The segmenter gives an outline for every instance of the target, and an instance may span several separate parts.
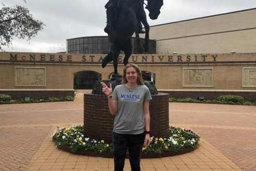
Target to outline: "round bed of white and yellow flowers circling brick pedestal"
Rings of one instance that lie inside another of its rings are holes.
[[[200,137],[191,130],[169,128],[170,137],[150,137],[149,147],[142,149],[142,158],[172,156],[187,153],[197,148]],[[57,148],[64,151],[89,156],[112,157],[113,146],[104,140],[83,135],[83,125],[71,128],[58,128],[52,136]]]

